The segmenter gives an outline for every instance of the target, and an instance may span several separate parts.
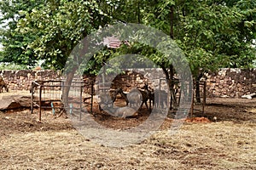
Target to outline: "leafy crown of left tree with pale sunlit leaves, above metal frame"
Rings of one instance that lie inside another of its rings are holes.
[[[79,40],[99,26],[105,26],[107,20],[107,14],[96,1],[62,0],[33,8],[18,26],[22,33],[39,32],[40,36],[27,48],[32,49],[38,59],[44,59],[45,68],[61,70]]]

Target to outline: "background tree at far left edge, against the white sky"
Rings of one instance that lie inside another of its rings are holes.
[[[0,61],[13,62],[23,65],[34,65],[36,63],[36,57],[34,57],[33,50],[27,49],[27,45],[31,43],[37,34],[23,34],[17,29],[17,23],[25,15],[22,11],[30,13],[32,8],[38,7],[44,0],[13,0],[13,1],[1,1],[0,10],[3,14],[0,19],[0,23],[3,26],[1,30],[0,41],[3,45],[3,52],[0,56]]]

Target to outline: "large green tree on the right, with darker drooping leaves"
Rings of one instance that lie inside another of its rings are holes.
[[[199,81],[205,72],[220,67],[247,67],[255,59],[251,47],[255,39],[255,3],[227,2],[152,0],[143,2],[140,8],[143,24],[164,31],[183,49],[196,82],[197,101],[200,101]],[[175,72],[172,64],[147,46],[133,45],[130,52],[147,55],[161,66],[172,91]]]

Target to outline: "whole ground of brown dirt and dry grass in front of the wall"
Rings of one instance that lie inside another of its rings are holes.
[[[38,110],[3,111],[0,168],[256,169],[256,99],[207,99],[205,113],[200,105],[195,108],[197,118],[188,119],[177,133],[168,133],[172,118],[167,117],[157,133],[126,147],[86,139],[69,119],[56,118],[51,111],[43,112],[42,122],[37,121]],[[96,106],[93,110],[100,115]],[[122,129],[146,117],[95,118],[105,127]]]

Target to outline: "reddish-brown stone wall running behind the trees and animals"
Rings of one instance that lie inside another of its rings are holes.
[[[9,85],[10,90],[29,90],[34,80],[57,80],[61,79],[60,71],[0,71],[0,75]],[[217,72],[207,74],[207,97],[236,97],[240,98],[244,94],[256,92],[256,69],[221,69]],[[112,88],[122,87],[125,91],[130,88],[142,88],[144,82],[154,87],[160,85],[160,78],[163,78],[163,72],[159,69],[152,71],[150,69],[141,69],[138,71],[126,71],[113,78]],[[107,77],[108,78],[108,77]],[[97,80],[97,81],[95,81]],[[100,81],[96,77],[84,76],[84,82],[87,87],[84,93],[90,94],[90,82]],[[161,81],[161,88],[166,87],[166,82]],[[95,86],[95,88],[98,88]]]

